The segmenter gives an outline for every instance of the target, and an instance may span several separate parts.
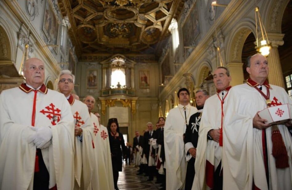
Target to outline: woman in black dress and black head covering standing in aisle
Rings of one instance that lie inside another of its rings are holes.
[[[111,154],[112,154],[112,172],[114,176],[114,185],[115,189],[119,190],[118,188],[118,178],[119,178],[119,171],[122,171],[122,151],[126,152],[126,146],[123,138],[123,134],[120,133],[119,130],[119,123],[118,119],[111,118],[108,120],[107,129],[109,131],[109,141],[111,147]]]

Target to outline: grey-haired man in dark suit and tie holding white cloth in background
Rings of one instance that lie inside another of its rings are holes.
[[[156,131],[153,130],[153,124],[151,122],[147,123],[148,131],[144,133],[144,146],[143,146],[143,153],[146,155],[147,163],[149,164],[149,156],[154,156],[155,158],[155,150],[152,150],[150,154],[150,141],[149,139],[153,138],[156,139]],[[154,155],[153,155],[154,154]],[[146,171],[148,172],[149,179],[148,181],[153,180],[153,173],[156,172],[155,166],[148,166],[146,165]]]

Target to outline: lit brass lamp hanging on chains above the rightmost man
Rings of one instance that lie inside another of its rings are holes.
[[[268,35],[266,33],[266,29],[263,25],[263,21],[262,21],[262,17],[260,14],[260,10],[258,8],[258,6],[256,6],[256,8],[254,9],[254,13],[255,13],[255,21],[256,21],[256,37],[257,37],[257,51],[262,54],[263,56],[267,57],[270,53],[270,49],[271,49],[271,45],[268,39]],[[258,43],[258,24],[260,26],[261,29],[261,34],[262,34],[262,41],[261,41],[261,45],[259,45]],[[266,36],[266,38],[265,38]]]

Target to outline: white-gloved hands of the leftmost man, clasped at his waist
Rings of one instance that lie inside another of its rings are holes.
[[[50,127],[31,127],[36,133],[28,138],[28,143],[33,142],[37,148],[48,147],[52,139]],[[49,143],[49,144],[48,144]]]

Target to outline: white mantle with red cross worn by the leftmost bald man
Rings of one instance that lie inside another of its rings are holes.
[[[50,126],[51,145],[42,149],[44,163],[50,174],[49,188],[71,190],[74,186],[74,120],[65,96],[48,89],[36,96],[35,127]],[[34,92],[26,93],[18,87],[2,91],[0,95],[0,189],[33,189],[36,146],[28,138],[36,131],[30,129]],[[60,120],[52,125],[47,117],[59,109]]]

